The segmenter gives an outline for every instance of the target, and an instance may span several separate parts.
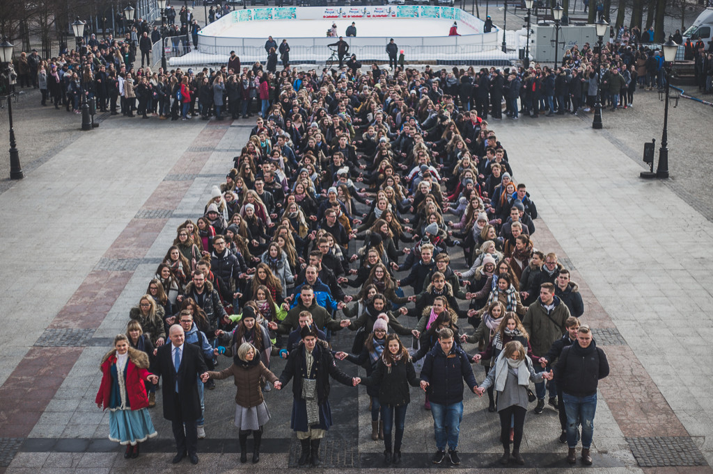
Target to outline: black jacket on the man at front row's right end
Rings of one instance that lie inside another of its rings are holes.
[[[562,349],[554,372],[565,394],[590,396],[597,393],[600,379],[609,375],[609,362],[594,340],[586,349],[575,341]]]

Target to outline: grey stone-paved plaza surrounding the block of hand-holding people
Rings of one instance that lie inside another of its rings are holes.
[[[610,362],[611,374],[600,382],[588,469],[711,472],[713,223],[680,192],[675,174],[669,182],[639,178],[642,164],[630,150],[640,144],[617,139],[615,130],[592,130],[588,120],[491,122],[515,180],[527,184],[538,206],[535,247],[555,251],[572,272],[585,300],[582,320]],[[128,310],[145,292],[175,229],[202,215],[211,186],[225,179],[254,124],[146,122],[103,120],[98,129],[43,150],[45,158],[23,181],[1,183],[1,472],[174,470],[160,392],[150,411],[158,438],[142,445],[138,460],[125,460],[108,441],[108,414],[94,403],[98,366],[125,330]],[[659,137],[655,130],[647,135]],[[118,144],[116,151],[107,152],[106,143]],[[453,268],[463,268],[460,249],[453,255]],[[403,318],[408,327],[416,324]],[[472,331],[466,324],[461,329]],[[353,336],[344,330],[332,342],[348,349]],[[220,367],[229,363],[222,358]],[[353,364],[339,365],[364,376]],[[279,375],[283,366],[272,359],[273,372]],[[482,368],[473,369],[482,381]],[[234,396],[232,381],[206,391],[200,464],[178,470],[296,468],[292,387],[266,394],[272,420],[257,467],[237,460]],[[371,441],[364,387],[334,383],[332,399],[335,426],[322,444],[324,470],[383,470],[383,444]],[[404,463],[395,470],[431,469],[433,422],[422,392],[413,389],[411,399]],[[486,397],[466,394],[465,401],[459,467],[501,470],[498,416],[488,413]],[[529,411],[521,471],[582,470],[580,463],[566,463],[558,436],[553,409]]]

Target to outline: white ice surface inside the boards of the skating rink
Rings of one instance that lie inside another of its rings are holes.
[[[292,19],[253,20],[243,23],[227,23],[220,31],[212,30],[215,36],[228,38],[319,38],[327,36],[327,29],[337,23],[337,35],[347,36],[347,26],[354,21],[356,37],[396,36],[424,37],[448,36],[452,19],[438,18],[358,18],[358,19]],[[476,31],[465,23],[458,23],[461,35],[475,34]]]

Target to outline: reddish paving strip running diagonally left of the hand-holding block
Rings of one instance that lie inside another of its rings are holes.
[[[191,147],[210,147],[220,142],[225,129],[206,127]],[[210,154],[185,152],[169,174],[198,174]],[[195,170],[195,171],[194,171]],[[165,182],[165,181],[164,181]],[[165,209],[166,203],[178,205],[190,182],[185,186],[158,186],[142,206],[145,209]],[[181,191],[183,190],[183,191]],[[0,440],[25,438],[39,421],[47,404],[76,364],[82,346],[91,341],[94,330],[101,325],[121,291],[133,275],[133,270],[145,260],[168,218],[134,218],[120,233],[103,258],[92,270],[67,304],[58,312],[50,327],[39,337],[14,371],[0,386]],[[153,260],[152,260],[153,261]],[[37,378],[42,379],[37,384]],[[0,454],[11,458],[14,441],[0,441]]]

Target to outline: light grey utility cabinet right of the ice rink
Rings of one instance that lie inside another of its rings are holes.
[[[580,48],[589,43],[592,48],[597,47],[597,27],[594,25],[585,26],[560,26],[559,44],[555,50],[555,23],[533,25],[533,34],[530,37],[533,41],[530,53],[537,63],[554,63],[555,57],[560,63],[565,51],[577,45]],[[609,40],[609,28],[602,41]],[[564,44],[563,44],[564,43]],[[557,52],[555,54],[555,51]]]

